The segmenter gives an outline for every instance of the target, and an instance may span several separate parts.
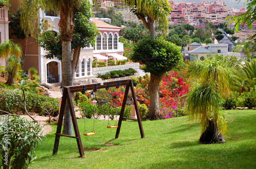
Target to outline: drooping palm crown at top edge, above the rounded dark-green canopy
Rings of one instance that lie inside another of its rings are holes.
[[[131,7],[138,19],[142,20],[146,29],[150,31],[151,39],[155,38],[154,25],[159,26],[159,30],[165,37],[168,30],[167,16],[170,14],[169,3],[166,0],[151,1],[151,0],[125,0],[125,5]]]

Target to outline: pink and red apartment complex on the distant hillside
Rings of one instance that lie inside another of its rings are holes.
[[[227,22],[225,19],[228,16],[235,16],[245,12],[245,9],[233,11],[227,7],[223,0],[221,1],[203,1],[196,3],[174,3],[169,1],[170,7],[173,9],[170,13],[170,24],[177,25],[189,23],[195,27],[204,27],[205,23],[200,23],[198,20],[208,20],[214,24]]]

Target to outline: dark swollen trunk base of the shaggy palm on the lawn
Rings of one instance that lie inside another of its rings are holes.
[[[226,140],[218,129],[217,123],[214,120],[208,120],[208,126],[201,135],[199,141],[205,144],[225,143]]]

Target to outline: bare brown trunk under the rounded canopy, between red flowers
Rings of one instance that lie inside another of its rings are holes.
[[[163,79],[165,73],[161,76],[150,74],[150,83],[148,84],[148,90],[150,91],[150,108],[148,110],[148,119],[150,120],[159,120],[161,115],[159,113],[159,104],[158,104],[158,90],[159,83]]]

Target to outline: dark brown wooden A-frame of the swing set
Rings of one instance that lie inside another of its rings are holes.
[[[120,117],[119,117],[118,125],[116,127],[117,130],[116,130],[115,138],[118,138],[118,136],[119,136],[119,132],[120,132],[120,129],[121,129],[121,124],[122,124],[122,121],[124,119],[137,120],[138,124],[139,124],[141,138],[145,137],[144,136],[144,131],[143,131],[143,128],[142,128],[140,112],[139,112],[139,108],[138,108],[138,104],[137,104],[137,99],[136,99],[132,79],[119,80],[119,81],[110,81],[110,82],[101,82],[101,83],[92,83],[92,84],[89,84],[89,85],[63,87],[63,96],[62,96],[60,112],[59,112],[59,121],[58,121],[58,125],[57,125],[57,130],[56,130],[56,133],[55,133],[55,142],[54,142],[54,147],[53,147],[53,155],[57,154],[57,152],[58,152],[60,136],[66,136],[66,137],[76,138],[76,142],[77,142],[80,157],[82,157],[82,158],[84,157],[84,151],[83,151],[83,147],[82,147],[80,133],[79,133],[79,130],[78,130],[78,125],[77,125],[77,121],[76,121],[75,110],[74,110],[74,105],[73,105],[72,98],[71,98],[71,93],[85,92],[85,91],[89,91],[89,90],[96,91],[97,89],[103,89],[103,88],[108,89],[110,87],[119,87],[119,86],[126,86],[126,87],[125,87],[125,93],[124,93],[123,103],[122,103],[122,107],[121,107]],[[133,100],[134,100],[134,106],[135,106],[137,119],[124,118],[123,117],[124,108],[125,108],[125,104],[126,104],[126,101],[127,101],[127,96],[128,96],[128,93],[129,93],[129,89],[131,89],[131,92],[132,92],[132,97],[133,97]],[[69,104],[69,109],[70,109],[72,123],[73,123],[73,126],[74,126],[75,136],[65,135],[65,134],[60,133],[61,132],[61,127],[62,127],[62,121],[63,121],[66,102],[68,102],[68,104]]]

